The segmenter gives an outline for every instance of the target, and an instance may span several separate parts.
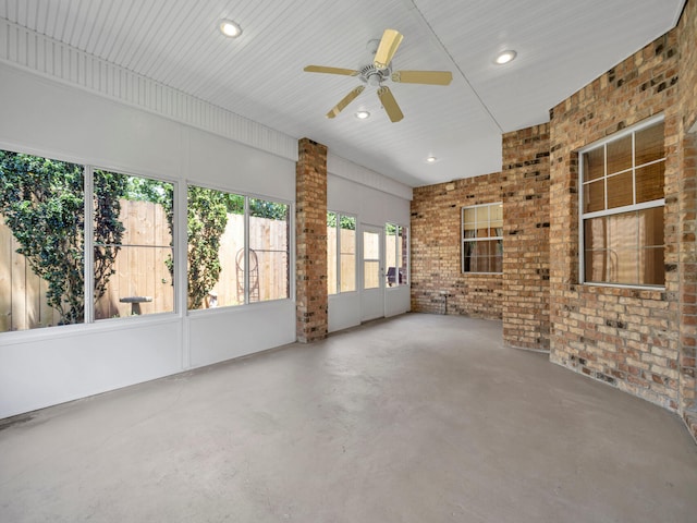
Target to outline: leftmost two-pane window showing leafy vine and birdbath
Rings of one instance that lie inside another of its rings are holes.
[[[0,332],[174,309],[172,183],[5,150],[0,174]]]

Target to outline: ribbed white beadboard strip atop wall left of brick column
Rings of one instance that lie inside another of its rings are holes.
[[[297,161],[297,139],[0,20],[0,62]]]

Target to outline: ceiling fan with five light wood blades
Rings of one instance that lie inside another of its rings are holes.
[[[391,78],[392,82],[402,84],[427,84],[427,85],[449,85],[453,80],[450,71],[395,71],[392,72],[392,57],[400,47],[404,36],[395,29],[384,29],[380,44],[375,50],[372,63],[360,68],[359,70],[327,68],[323,65],[307,65],[304,71],[308,73],[328,73],[343,74],[345,76],[358,76],[358,78],[367,85],[378,87],[378,98],[388,113],[388,118],[392,122],[399,122],[404,118],[400,106],[398,105],[392,92],[383,82]],[[377,41],[377,40],[375,40]],[[334,118],[343,111],[348,104],[355,100],[365,89],[365,85],[359,85],[351,93],[344,96],[327,113],[327,118]]]

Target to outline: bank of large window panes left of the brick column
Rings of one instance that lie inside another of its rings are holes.
[[[175,188],[0,150],[0,332],[174,312]],[[189,185],[186,212],[188,309],[290,296],[289,204]]]

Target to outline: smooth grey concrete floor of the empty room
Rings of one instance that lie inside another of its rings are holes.
[[[0,430],[0,521],[695,522],[677,416],[408,314]]]

